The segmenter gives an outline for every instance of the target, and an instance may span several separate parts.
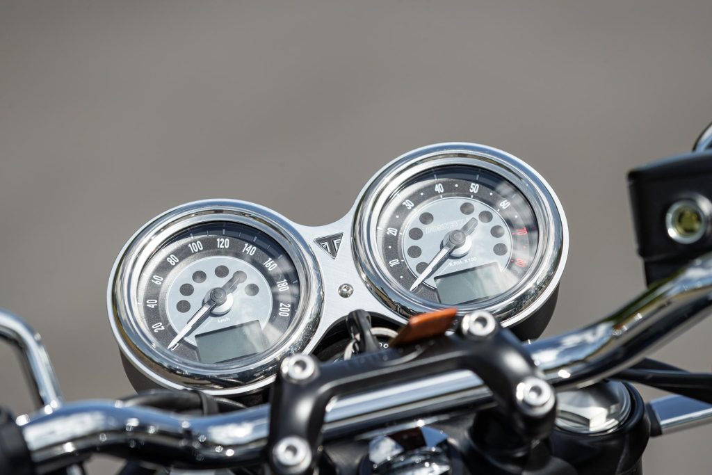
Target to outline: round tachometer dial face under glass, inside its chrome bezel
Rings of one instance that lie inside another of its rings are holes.
[[[430,169],[404,182],[376,221],[382,268],[402,291],[443,305],[497,298],[535,260],[539,229],[525,196],[476,166]]]

